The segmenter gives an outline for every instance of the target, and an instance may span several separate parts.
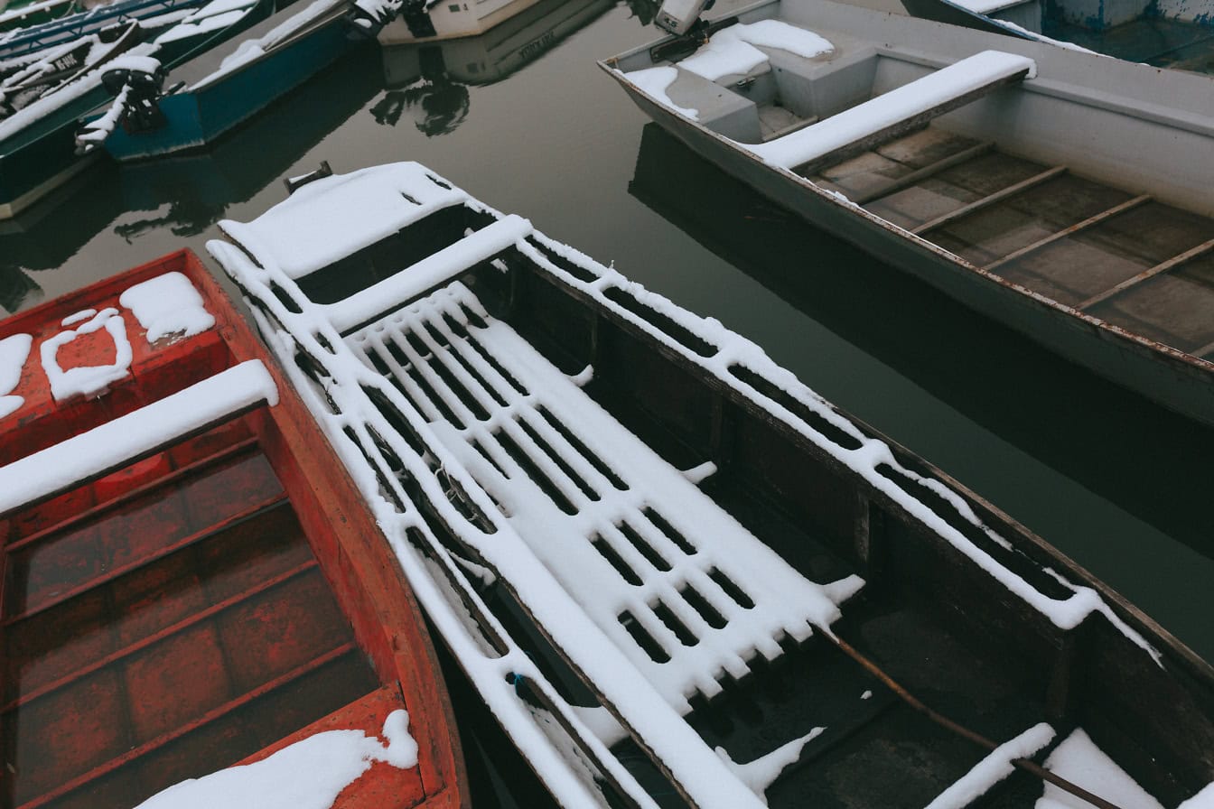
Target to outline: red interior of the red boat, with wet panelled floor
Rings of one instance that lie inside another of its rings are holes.
[[[153,269],[186,262],[198,284],[206,270],[189,253]],[[117,304],[131,283],[155,274],[125,274],[87,297],[30,309],[13,327],[53,335],[64,313]],[[221,295],[209,278],[204,292]],[[208,301],[217,312],[217,300]],[[140,418],[152,403],[231,369],[251,346],[226,342],[219,329],[168,347],[130,334],[135,378],[101,399],[56,406],[40,375],[28,375],[18,392],[34,404],[19,425],[5,422],[4,456]],[[112,357],[107,340],[106,329],[79,336],[59,364]],[[425,727],[430,708],[415,699],[425,680],[402,674],[401,660],[419,653],[392,649],[408,631],[378,622],[399,615],[403,596],[387,591],[371,604],[371,580],[359,579],[359,552],[342,535],[346,517],[325,513],[341,511],[340,501],[320,505],[340,490],[308,467],[314,446],[293,445],[296,428],[261,403],[0,514],[0,807],[129,809],[320,730],[378,735],[405,695],[422,769],[376,763],[375,777],[399,807],[441,785],[425,744],[436,733]],[[339,541],[348,554],[341,565]],[[404,680],[416,683],[402,693]],[[339,805],[385,805],[378,799],[344,793]]]

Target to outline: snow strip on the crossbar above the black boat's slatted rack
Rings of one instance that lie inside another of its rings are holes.
[[[531,222],[521,216],[506,216],[455,244],[426,256],[407,272],[390,275],[378,284],[324,308],[337,331],[347,331],[384,311],[385,301],[398,304],[446,284],[469,267],[492,258],[516,241],[531,235]],[[403,267],[401,269],[404,269]]]

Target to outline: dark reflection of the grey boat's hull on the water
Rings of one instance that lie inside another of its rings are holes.
[[[1214,517],[1204,494],[1214,431],[1094,377],[804,224],[656,124],[645,126],[629,193],[968,418],[1214,559]],[[1094,388],[1099,412],[1080,404],[1093,400]]]

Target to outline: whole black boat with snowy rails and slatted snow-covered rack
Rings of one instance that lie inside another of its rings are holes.
[[[208,250],[561,805],[1214,798],[1214,670],[993,506],[418,164],[306,181]]]

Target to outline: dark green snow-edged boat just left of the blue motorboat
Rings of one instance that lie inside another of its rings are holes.
[[[149,34],[144,23],[131,21],[120,52],[110,49],[104,59],[90,58],[70,80],[0,118],[0,220],[16,216],[89,166],[78,154],[83,118],[115,95],[157,92],[165,72],[238,35],[273,7],[274,0],[211,0],[202,8],[180,10],[175,21],[180,28],[161,30],[151,41],[144,40]],[[22,69],[36,76],[53,64],[39,56],[23,61]]]

